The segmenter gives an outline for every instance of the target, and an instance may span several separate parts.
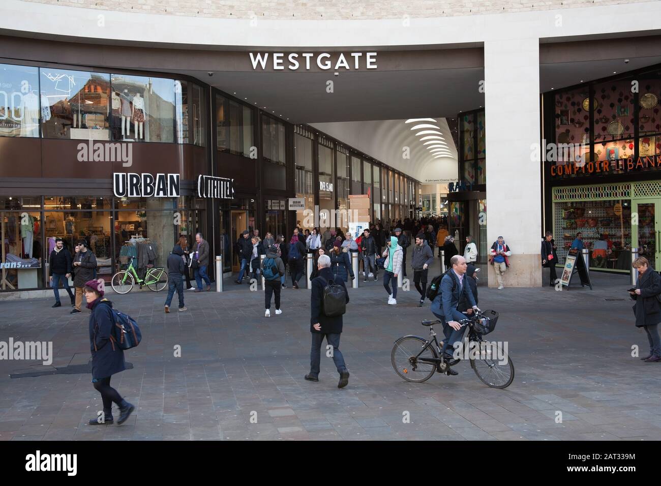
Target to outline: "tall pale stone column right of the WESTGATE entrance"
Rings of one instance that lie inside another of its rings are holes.
[[[541,286],[538,38],[485,41],[485,118],[487,246],[502,235],[512,250],[505,287]]]

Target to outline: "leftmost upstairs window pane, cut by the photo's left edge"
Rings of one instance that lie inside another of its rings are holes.
[[[41,104],[50,114],[48,100]],[[38,137],[39,115],[39,69],[0,64],[0,137]]]

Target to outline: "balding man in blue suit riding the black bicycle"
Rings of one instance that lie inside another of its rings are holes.
[[[461,298],[465,297],[472,306],[471,309],[466,311],[468,315],[472,314],[474,310],[480,310],[475,304],[471,286],[464,280],[467,269],[466,260],[461,255],[455,255],[450,259],[450,264],[452,269],[441,279],[440,292],[432,302],[431,307],[431,311],[443,323],[443,334],[446,339],[443,340],[442,354],[447,359],[452,359],[454,344],[460,342],[463,333],[466,332],[466,326],[462,327],[458,322],[466,318],[466,315],[457,310]],[[457,375],[458,373],[452,368],[448,368],[447,374]]]

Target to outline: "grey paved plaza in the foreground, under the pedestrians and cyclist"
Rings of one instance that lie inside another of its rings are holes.
[[[165,292],[109,295],[143,332],[126,353],[133,367],[112,378],[136,405],[121,426],[86,425],[102,408],[89,374],[89,311],[1,302],[0,341],[52,341],[54,360],[0,361],[0,440],[660,440],[661,366],[631,356],[648,344],[633,325],[628,277],[592,277],[592,291],[479,288],[480,307],[500,312],[489,338],[508,341],[516,367],[505,390],[483,385],[467,362],[459,376],[403,382],[393,341],[426,336],[420,321],[433,315],[414,289],[387,305],[380,278],[349,290],[344,389],[324,355],[319,383],[303,380],[305,289],[283,290],[284,312],[270,318],[262,292],[229,278],[222,294],[186,292],[189,310],[168,315]]]

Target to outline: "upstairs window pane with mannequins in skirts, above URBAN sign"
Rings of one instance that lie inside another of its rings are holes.
[[[175,142],[175,90],[180,81],[161,77],[112,75],[112,138]]]

